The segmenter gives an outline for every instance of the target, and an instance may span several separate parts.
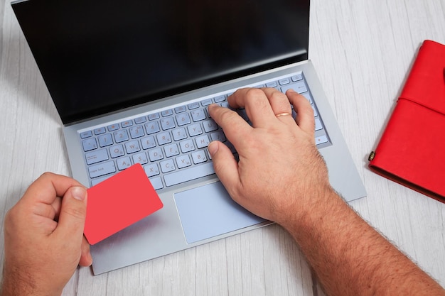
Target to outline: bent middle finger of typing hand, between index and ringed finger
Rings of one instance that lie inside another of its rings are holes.
[[[233,108],[245,108],[254,127],[269,126],[270,121],[275,118],[269,99],[262,89],[238,89],[227,101]]]

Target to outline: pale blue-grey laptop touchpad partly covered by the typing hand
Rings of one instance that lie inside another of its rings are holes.
[[[174,194],[187,243],[266,221],[233,201],[221,182]]]

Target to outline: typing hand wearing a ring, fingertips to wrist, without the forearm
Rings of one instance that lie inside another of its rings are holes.
[[[240,89],[228,102],[232,108],[245,108],[252,126],[235,111],[215,104],[209,112],[240,160],[223,143],[210,143],[208,150],[215,172],[236,202],[285,224],[295,218],[287,215],[304,214],[316,197],[331,190],[326,165],[315,146],[313,109],[305,97],[291,90],[282,94],[277,89]]]

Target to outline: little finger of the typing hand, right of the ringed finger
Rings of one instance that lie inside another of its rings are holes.
[[[293,89],[286,92],[289,102],[294,106],[296,111],[296,124],[306,133],[315,133],[315,120],[313,119],[313,109],[308,99],[303,97]]]

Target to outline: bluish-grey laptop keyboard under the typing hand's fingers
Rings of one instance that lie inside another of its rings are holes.
[[[316,121],[316,145],[329,144],[328,135],[302,74],[267,81],[255,87],[275,87],[282,92],[294,89],[311,102]],[[216,103],[229,107],[227,94],[173,109],[141,114],[89,131],[80,132],[90,184],[92,186],[117,172],[140,163],[155,190],[215,173],[207,146],[221,141],[237,157],[222,129],[208,115],[207,106]],[[249,122],[244,109],[238,114]],[[294,117],[296,116],[293,112]]]

